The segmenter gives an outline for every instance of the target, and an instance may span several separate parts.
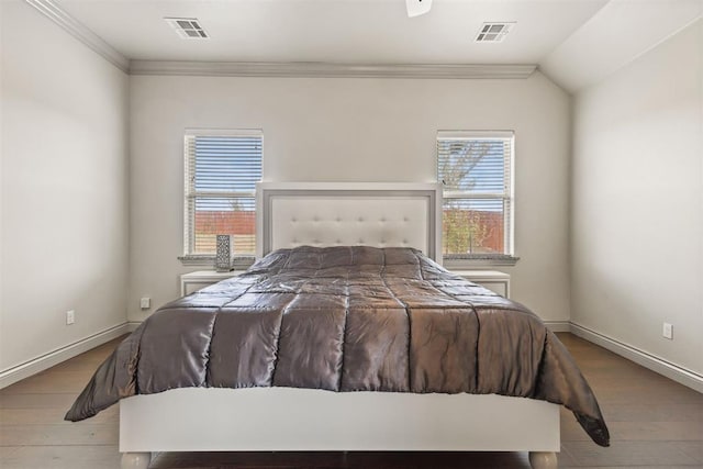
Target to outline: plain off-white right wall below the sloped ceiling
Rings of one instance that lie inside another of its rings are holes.
[[[576,96],[571,210],[572,321],[698,373],[702,62],[699,20]]]

